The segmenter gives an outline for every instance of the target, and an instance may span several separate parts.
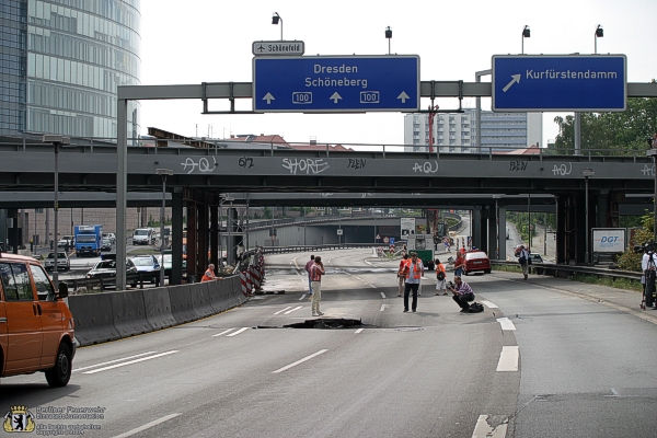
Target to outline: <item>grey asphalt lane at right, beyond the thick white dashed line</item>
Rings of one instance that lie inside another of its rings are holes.
[[[654,323],[577,296],[576,281],[493,277],[500,280],[488,286],[487,297],[516,325],[522,357],[516,437],[654,436]],[[558,289],[543,286],[555,283]]]

